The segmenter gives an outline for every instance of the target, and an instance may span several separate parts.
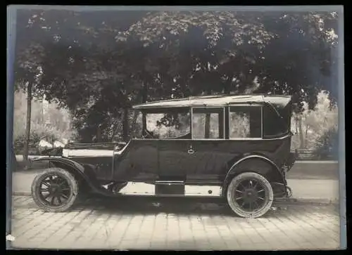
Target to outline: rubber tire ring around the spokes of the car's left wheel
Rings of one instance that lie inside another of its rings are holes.
[[[57,174],[58,176],[65,178],[65,180],[68,181],[68,185],[71,188],[72,195],[69,197],[68,201],[65,204],[63,204],[61,207],[49,207],[48,205],[44,204],[39,197],[39,185],[44,178],[49,176],[49,174]],[[79,185],[75,176],[73,176],[73,174],[70,174],[70,172],[66,171],[65,169],[61,169],[58,167],[46,169],[44,173],[35,176],[32,182],[32,199],[40,209],[48,212],[68,211],[68,209],[73,207],[75,205],[75,202],[77,202],[78,191],[79,191]]]

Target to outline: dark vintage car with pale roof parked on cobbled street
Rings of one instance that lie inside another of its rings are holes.
[[[32,183],[40,208],[65,211],[81,193],[93,192],[213,197],[238,216],[260,217],[273,200],[289,196],[290,96],[199,96],[133,108],[142,119],[141,137],[68,143],[61,155],[36,159],[50,166]]]

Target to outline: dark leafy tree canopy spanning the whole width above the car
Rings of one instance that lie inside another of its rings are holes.
[[[18,17],[18,84],[33,82],[38,97],[68,107],[82,141],[126,139],[125,120],[136,122],[127,108],[149,100],[283,93],[302,112],[322,89],[336,99],[336,13],[23,10]]]

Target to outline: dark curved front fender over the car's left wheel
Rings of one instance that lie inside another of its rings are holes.
[[[73,174],[79,180],[84,181],[92,190],[99,192],[99,185],[96,182],[96,178],[92,172],[85,169],[82,164],[74,162],[71,159],[66,159],[63,157],[42,157],[40,159],[34,159],[33,162],[44,162],[48,161],[56,167],[65,169]]]

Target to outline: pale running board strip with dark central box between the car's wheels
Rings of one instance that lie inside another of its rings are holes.
[[[161,197],[221,197],[220,185],[187,185],[184,181],[156,181],[154,184],[129,182],[120,195]]]

